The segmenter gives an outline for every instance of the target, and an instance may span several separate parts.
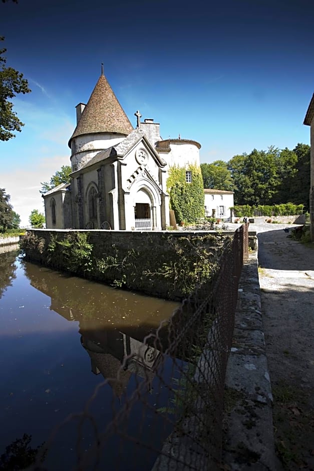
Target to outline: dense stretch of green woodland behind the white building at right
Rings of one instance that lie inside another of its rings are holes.
[[[294,149],[253,149],[234,155],[228,162],[202,163],[204,188],[234,191],[234,204],[250,206],[286,202],[309,210],[310,146]]]

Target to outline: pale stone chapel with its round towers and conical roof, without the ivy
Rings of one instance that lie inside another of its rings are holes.
[[[46,227],[160,230],[169,224],[169,167],[199,165],[200,144],[162,140],[153,119],[133,129],[101,74],[87,105],[76,107],[71,183],[45,193]],[[186,170],[186,182],[191,172]]]

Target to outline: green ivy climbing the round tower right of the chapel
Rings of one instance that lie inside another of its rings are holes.
[[[186,170],[191,172],[191,183],[185,181]],[[204,217],[204,186],[200,167],[193,164],[170,167],[167,191],[170,209],[174,210],[177,222],[192,223]]]

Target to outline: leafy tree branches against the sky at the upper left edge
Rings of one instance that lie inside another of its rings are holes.
[[[0,41],[4,41],[0,37]],[[5,67],[7,59],[3,57],[6,49],[0,49],[0,140],[8,141],[15,137],[12,131],[21,131],[24,123],[20,121],[13,111],[13,103],[10,101],[19,93],[30,93],[28,81],[23,78],[23,74],[13,69]]]

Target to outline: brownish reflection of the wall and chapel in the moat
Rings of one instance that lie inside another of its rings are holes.
[[[123,364],[119,381],[108,381],[117,397],[126,390],[132,373],[145,378],[151,387],[161,354],[143,340],[170,317],[178,303],[115,290],[29,263],[25,274],[32,286],[51,298],[50,309],[68,321],[79,321],[81,344],[94,374],[116,378]]]

